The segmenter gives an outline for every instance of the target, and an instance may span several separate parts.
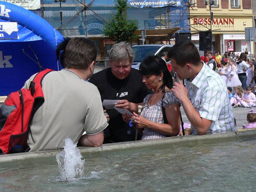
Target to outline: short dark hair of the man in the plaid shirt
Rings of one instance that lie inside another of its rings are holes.
[[[186,63],[202,65],[196,46],[190,41],[173,45],[168,51],[168,57],[175,59],[181,67],[185,66]]]

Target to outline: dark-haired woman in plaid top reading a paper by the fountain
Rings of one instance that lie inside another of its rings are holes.
[[[161,57],[148,56],[140,64],[142,82],[154,94],[147,95],[140,117],[133,113],[134,122],[139,130],[143,130],[141,140],[177,136],[180,131],[180,101],[176,99],[172,89],[172,76]],[[128,122],[127,114],[123,115]]]

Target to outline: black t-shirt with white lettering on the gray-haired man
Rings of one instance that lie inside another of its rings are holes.
[[[90,83],[96,85],[99,89],[101,100],[128,100],[132,103],[142,103],[143,99],[152,93],[142,83],[140,71],[131,68],[129,76],[125,79],[117,79],[111,72],[111,68],[104,69],[92,75]],[[116,109],[108,109],[110,139],[114,142],[135,140],[135,129],[128,126],[123,121],[122,114]],[[130,134],[129,130],[131,131]],[[107,131],[107,130],[106,130]],[[128,132],[128,133],[127,133]]]

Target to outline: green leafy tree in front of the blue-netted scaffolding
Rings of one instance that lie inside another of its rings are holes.
[[[128,42],[131,39],[138,38],[135,35],[135,31],[138,28],[136,20],[127,20],[127,0],[115,0],[115,5],[117,12],[104,25],[103,34],[117,43],[121,41]]]

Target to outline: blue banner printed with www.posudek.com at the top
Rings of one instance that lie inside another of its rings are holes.
[[[164,6],[181,6],[180,0],[128,0],[127,4],[137,8],[154,8]]]

